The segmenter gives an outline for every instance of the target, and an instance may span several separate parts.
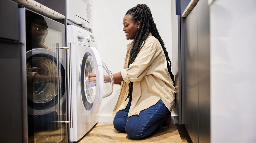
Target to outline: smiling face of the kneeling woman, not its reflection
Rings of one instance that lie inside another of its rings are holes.
[[[131,19],[131,15],[125,15],[123,18],[123,31],[127,40],[134,40],[137,34],[137,28],[139,28],[140,22],[134,23]]]

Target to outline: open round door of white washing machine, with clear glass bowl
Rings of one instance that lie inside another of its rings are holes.
[[[96,115],[101,100],[113,92],[113,76],[94,47],[87,47],[81,62],[80,87],[84,110]]]

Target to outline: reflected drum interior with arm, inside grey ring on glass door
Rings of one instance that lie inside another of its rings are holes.
[[[32,87],[28,90],[28,98],[34,103],[46,103],[52,100],[58,93],[56,63],[46,57],[34,57],[27,62],[27,67],[31,67],[28,68],[28,72],[38,74],[33,76],[32,84],[28,86]]]

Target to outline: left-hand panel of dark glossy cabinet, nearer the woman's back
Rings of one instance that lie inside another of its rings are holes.
[[[184,20],[185,127],[193,142],[198,142],[198,29],[197,9]]]

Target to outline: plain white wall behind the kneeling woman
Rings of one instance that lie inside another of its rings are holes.
[[[102,60],[112,73],[123,68],[126,45],[132,40],[126,40],[122,20],[128,9],[137,4],[146,4],[157,25],[160,36],[165,43],[170,59],[172,59],[172,28],[170,0],[92,0],[92,32],[96,36],[97,49]],[[116,105],[120,86],[115,85],[112,95],[102,100],[99,122],[113,122],[112,111]]]

